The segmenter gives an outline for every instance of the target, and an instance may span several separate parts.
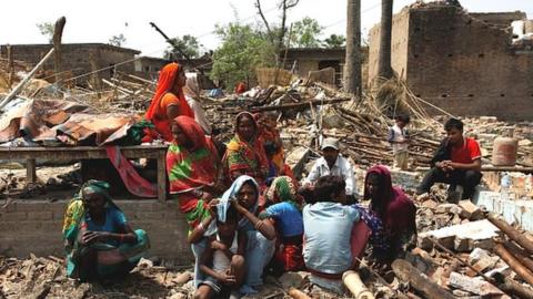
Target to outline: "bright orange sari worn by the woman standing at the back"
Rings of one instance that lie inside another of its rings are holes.
[[[158,86],[155,87],[155,94],[152,97],[150,107],[147,111],[145,118],[151,121],[158,132],[163,136],[165,141],[172,141],[172,132],[170,131],[171,120],[167,116],[168,105],[162,105],[161,102],[164,96],[172,95],[172,101],[180,109],[180,115],[187,115],[194,117],[194,113],[187,103],[183,90],[180,89],[177,94],[172,91],[175,89],[175,78],[182,70],[182,66],[175,62],[169,63],[163,66],[159,74]],[[169,97],[170,99],[170,97]]]

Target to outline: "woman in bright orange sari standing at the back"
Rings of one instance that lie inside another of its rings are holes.
[[[153,123],[159,134],[168,142],[172,141],[170,125],[173,118],[179,115],[194,118],[194,112],[187,103],[183,94],[184,85],[185,72],[183,68],[175,62],[164,65],[159,74],[152,103],[145,114],[145,118]]]

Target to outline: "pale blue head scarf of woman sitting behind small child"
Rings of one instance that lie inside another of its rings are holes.
[[[241,190],[244,183],[249,182],[252,183],[258,195],[258,198],[255,198],[255,204],[249,209],[249,212],[255,214],[259,206],[259,185],[253,177],[248,175],[241,175],[233,182],[233,184],[231,184],[230,188],[227,189],[222,197],[219,199],[219,204],[217,205],[217,217],[219,221],[225,223],[225,215],[228,213],[228,209],[230,208],[231,200],[237,200],[237,194],[239,193],[239,190]],[[243,228],[248,224],[250,224],[250,220],[248,220],[247,217],[242,217],[239,220],[238,227]],[[214,233],[217,233],[217,224],[215,221],[212,221],[205,235],[209,236]]]

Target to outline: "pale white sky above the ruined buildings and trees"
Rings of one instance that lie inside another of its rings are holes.
[[[278,22],[279,0],[262,0],[270,22]],[[361,0],[361,28],[366,32],[378,23],[381,0]],[[394,12],[414,0],[394,0]],[[142,51],[142,55],[160,56],[168,44],[150,27],[158,24],[169,37],[191,34],[204,49],[215,49],[220,40],[213,34],[215,24],[235,20],[261,22],[253,6],[254,0],[8,0],[2,1],[0,14],[0,44],[47,43],[37,23],[56,22],[64,16],[63,43],[108,43],[109,39],[124,34],[125,48]],[[462,0],[470,12],[521,10],[533,19],[533,0]],[[310,17],[324,27],[324,37],[345,34],[346,0],[300,0],[289,11],[288,24]]]

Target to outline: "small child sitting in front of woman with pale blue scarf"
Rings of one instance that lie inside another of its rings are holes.
[[[200,270],[207,279],[199,282],[194,298],[219,298],[221,292],[231,292],[230,298],[239,297],[239,288],[244,281],[247,247],[245,234],[239,234],[238,212],[230,206],[225,219],[217,218],[218,233],[210,237],[201,259]]]

